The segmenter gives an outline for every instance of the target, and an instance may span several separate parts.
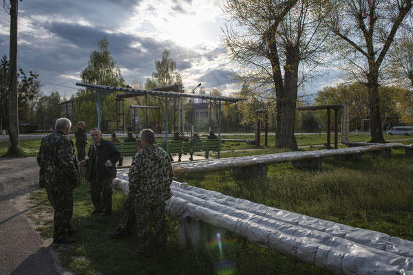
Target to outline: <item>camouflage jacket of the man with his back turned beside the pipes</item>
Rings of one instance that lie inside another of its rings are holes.
[[[156,145],[136,153],[129,168],[129,192],[142,203],[163,203],[172,197],[173,170],[169,155]]]

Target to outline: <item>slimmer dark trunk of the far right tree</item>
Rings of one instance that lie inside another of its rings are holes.
[[[370,142],[384,143],[379,100],[379,73],[370,69],[368,74],[368,107],[370,109]]]

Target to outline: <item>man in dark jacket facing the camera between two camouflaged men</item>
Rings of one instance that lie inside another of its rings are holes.
[[[95,208],[91,213],[106,216],[112,213],[112,180],[116,177],[115,164],[120,153],[111,142],[103,140],[99,129],[92,129],[90,136],[94,143],[81,165],[87,165],[86,180],[90,181],[90,197]]]

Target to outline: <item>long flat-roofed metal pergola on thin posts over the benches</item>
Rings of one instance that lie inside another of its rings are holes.
[[[92,89],[96,92],[98,97],[98,104],[96,104],[96,109],[98,111],[98,118],[100,121],[100,95],[107,96],[114,91],[127,92],[129,94],[136,94],[136,96],[152,96],[162,102],[165,102],[165,140],[166,149],[168,148],[168,102],[175,100],[176,98],[199,98],[206,102],[209,102],[215,113],[218,115],[218,158],[220,158],[221,152],[221,107],[227,104],[232,104],[238,101],[246,100],[246,98],[231,98],[229,96],[208,96],[204,94],[185,94],[185,93],[174,93],[169,91],[156,91],[156,90],[144,90],[144,89],[132,89],[123,87],[111,87],[104,85],[95,85],[88,83],[76,83],[76,86],[85,87],[87,89]],[[100,129],[100,122],[98,122],[98,127]]]

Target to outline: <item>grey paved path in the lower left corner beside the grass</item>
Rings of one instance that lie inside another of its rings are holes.
[[[25,217],[30,192],[39,190],[35,157],[0,158],[0,274],[67,274],[51,239],[41,239]]]

